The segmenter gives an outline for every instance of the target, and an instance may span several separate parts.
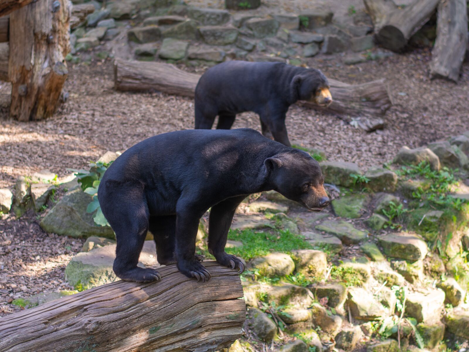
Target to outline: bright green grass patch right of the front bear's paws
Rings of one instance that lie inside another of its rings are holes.
[[[226,251],[244,260],[262,257],[272,252],[288,253],[295,249],[312,249],[302,236],[283,230],[272,230],[272,232],[230,230],[228,239],[242,242],[242,246],[227,248]]]

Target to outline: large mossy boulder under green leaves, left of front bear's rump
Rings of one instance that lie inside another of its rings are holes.
[[[80,187],[68,191],[42,219],[41,228],[47,233],[70,237],[114,238],[114,232],[109,226],[96,225],[94,214],[86,212],[90,202],[91,196]]]

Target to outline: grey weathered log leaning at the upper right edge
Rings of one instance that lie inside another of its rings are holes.
[[[443,0],[438,5],[437,39],[431,51],[431,78],[457,82],[468,49],[466,0]]]

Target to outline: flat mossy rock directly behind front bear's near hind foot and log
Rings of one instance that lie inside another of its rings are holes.
[[[65,268],[68,283],[81,291],[119,280],[113,271],[115,252],[116,245],[106,245],[76,254]],[[154,241],[145,241],[138,266],[160,266],[156,260]]]

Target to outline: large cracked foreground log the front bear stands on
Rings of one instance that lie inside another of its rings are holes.
[[[241,336],[236,271],[204,262],[206,283],[160,268],[161,281],[118,281],[0,318],[0,352],[216,351]]]

